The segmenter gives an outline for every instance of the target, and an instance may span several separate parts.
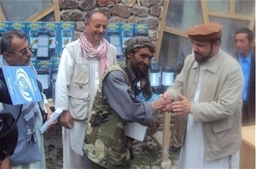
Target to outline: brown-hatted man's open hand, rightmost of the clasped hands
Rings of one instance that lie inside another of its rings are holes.
[[[191,102],[181,94],[178,94],[180,101],[172,103],[172,112],[175,115],[187,115],[191,112]]]

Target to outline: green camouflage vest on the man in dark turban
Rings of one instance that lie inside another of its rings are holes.
[[[109,72],[121,70],[125,74],[125,81],[131,86],[124,68],[125,63],[113,65],[102,76],[84,138],[83,149],[89,159],[111,169],[123,169],[130,166],[131,140],[125,137],[125,121],[108,104],[103,103],[102,82]]]

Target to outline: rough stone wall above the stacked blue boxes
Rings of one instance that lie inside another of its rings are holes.
[[[61,20],[75,21],[77,39],[84,31],[84,14],[101,9],[108,14],[109,23],[148,24],[148,37],[157,41],[163,0],[59,0]]]

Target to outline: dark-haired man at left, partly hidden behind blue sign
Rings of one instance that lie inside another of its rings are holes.
[[[9,31],[1,38],[0,66],[32,66],[31,45],[25,33]],[[33,69],[35,69],[32,66]],[[35,70],[36,73],[36,70]],[[44,94],[43,94],[44,95]],[[3,110],[9,111],[15,118],[20,113],[16,125],[18,128],[18,143],[12,155],[2,161],[1,168],[45,168],[44,135],[39,132],[45,116],[52,114],[47,100],[36,104],[3,104]],[[44,104],[44,105],[43,105]]]

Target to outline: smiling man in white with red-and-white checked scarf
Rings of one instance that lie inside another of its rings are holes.
[[[95,99],[100,76],[116,62],[116,48],[103,38],[108,16],[87,12],[85,31],[63,49],[55,84],[55,109],[61,109],[63,168],[83,168],[87,114]]]

